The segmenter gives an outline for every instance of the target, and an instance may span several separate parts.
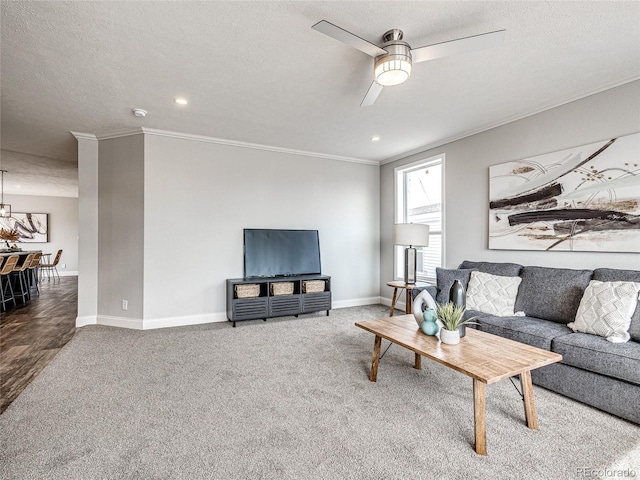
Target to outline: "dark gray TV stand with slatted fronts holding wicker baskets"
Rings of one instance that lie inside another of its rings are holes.
[[[304,282],[323,281],[324,290],[306,293]],[[288,282],[293,284],[293,293],[274,295],[272,284]],[[238,298],[236,286],[257,285],[259,293],[249,298]],[[331,277],[326,275],[297,275],[289,277],[230,278],[227,280],[227,319],[233,322],[242,320],[267,320],[268,318],[295,316],[301,313],[331,310]]]

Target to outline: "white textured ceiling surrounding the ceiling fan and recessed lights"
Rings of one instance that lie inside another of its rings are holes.
[[[312,30],[322,19],[374,43],[400,28],[412,47],[507,33],[362,108],[373,60]],[[637,1],[3,0],[1,26],[2,168],[20,152],[57,169],[76,162],[70,131],[132,127],[378,162],[640,78]]]

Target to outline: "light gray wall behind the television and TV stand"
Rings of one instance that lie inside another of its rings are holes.
[[[244,228],[319,230],[334,307],[378,302],[378,166],[150,134],[144,150],[145,328],[226,319]]]

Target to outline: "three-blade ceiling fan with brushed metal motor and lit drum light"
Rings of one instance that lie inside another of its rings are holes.
[[[373,105],[384,87],[400,85],[405,82],[411,76],[413,63],[499,47],[504,41],[506,32],[506,30],[497,30],[425,47],[411,48],[407,42],[402,40],[402,30],[398,29],[386,32],[382,36],[384,43],[378,46],[326,20],[319,21],[311,28],[374,57],[374,80],[360,103],[361,107]]]

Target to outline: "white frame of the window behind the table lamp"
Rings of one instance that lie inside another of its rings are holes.
[[[435,155],[433,157],[429,157],[423,160],[417,160],[412,163],[408,163],[406,165],[401,165],[393,169],[393,185],[394,185],[394,223],[405,223],[406,222],[406,189],[402,188],[403,195],[400,196],[399,189],[400,187],[400,173],[406,173],[411,170],[415,170],[418,168],[429,168],[432,165],[441,165],[441,178],[440,178],[440,188],[441,188],[441,210],[440,210],[440,231],[430,231],[429,236],[439,235],[440,236],[440,267],[445,264],[445,154],[441,153],[439,155]],[[420,252],[420,249],[418,249]],[[418,253],[420,256],[420,253]],[[394,245],[393,247],[393,272],[395,280],[402,280],[404,278],[404,247]],[[427,282],[435,284],[436,279],[435,276],[433,278],[427,277],[422,274],[422,272],[417,272],[417,281],[419,282]]]

